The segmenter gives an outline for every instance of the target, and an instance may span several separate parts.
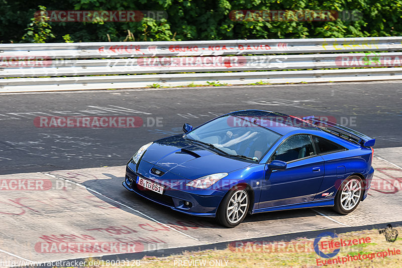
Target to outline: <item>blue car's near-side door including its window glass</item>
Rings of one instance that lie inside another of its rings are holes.
[[[313,201],[324,178],[324,160],[317,155],[310,135],[287,138],[268,162],[273,160],[286,162],[287,168],[271,171],[265,166],[258,208]]]

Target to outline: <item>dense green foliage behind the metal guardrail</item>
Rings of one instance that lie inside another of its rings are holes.
[[[27,24],[43,1],[0,0],[0,42],[22,40]],[[51,33],[42,41],[75,42],[228,40],[277,38],[341,38],[402,35],[402,0],[66,0],[46,1],[47,10],[163,10],[168,18],[139,22],[49,22]],[[233,21],[233,10],[357,10],[355,21]],[[31,22],[32,23],[32,22]],[[50,29],[50,28],[46,28]],[[45,31],[46,33],[46,31]],[[49,34],[49,33],[48,33]],[[29,34],[28,34],[29,36]],[[130,37],[128,39],[128,36]],[[39,39],[38,39],[39,40]],[[35,41],[36,42],[36,41]]]

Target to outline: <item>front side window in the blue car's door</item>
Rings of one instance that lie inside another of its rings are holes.
[[[272,160],[290,162],[300,158],[313,156],[314,147],[309,135],[295,135],[279,146]]]

